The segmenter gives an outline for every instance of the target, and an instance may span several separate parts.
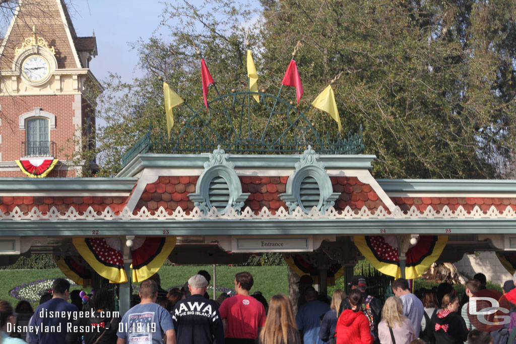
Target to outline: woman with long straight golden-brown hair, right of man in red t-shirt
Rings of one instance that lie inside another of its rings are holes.
[[[301,344],[292,303],[286,295],[279,294],[270,299],[259,339],[260,344]]]

